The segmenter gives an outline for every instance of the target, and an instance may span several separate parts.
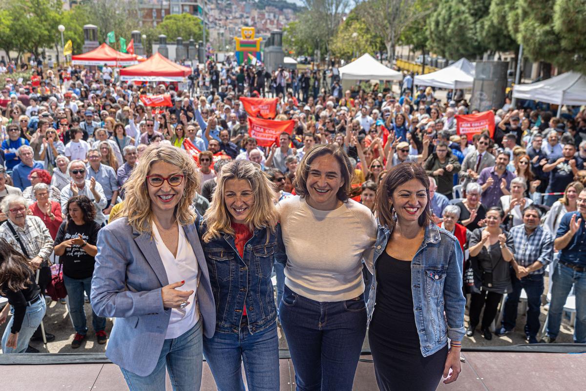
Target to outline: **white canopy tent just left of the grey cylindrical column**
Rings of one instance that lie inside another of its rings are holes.
[[[448,67],[414,77],[416,86],[430,86],[440,89],[471,89],[474,81],[474,65],[461,58]]]

